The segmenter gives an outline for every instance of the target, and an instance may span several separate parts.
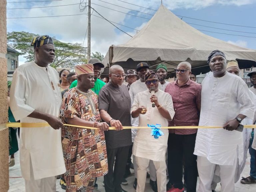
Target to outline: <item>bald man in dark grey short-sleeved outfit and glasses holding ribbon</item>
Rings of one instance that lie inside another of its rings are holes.
[[[128,87],[122,85],[126,76],[124,69],[113,65],[109,72],[110,81],[99,93],[99,110],[101,118],[116,130],[105,131],[109,172],[104,176],[104,185],[106,192],[125,192],[121,182],[132,135],[131,129],[123,130],[123,126],[131,126],[131,98]]]

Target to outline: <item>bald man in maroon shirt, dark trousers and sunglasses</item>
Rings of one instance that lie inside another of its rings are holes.
[[[190,80],[191,64],[181,62],[174,69],[177,81],[168,84],[165,92],[172,96],[175,115],[169,126],[198,126],[201,109],[201,85]],[[187,192],[196,192],[197,164],[193,154],[197,129],[169,129],[168,192],[183,192],[182,160],[184,157]],[[172,158],[175,157],[175,158]]]

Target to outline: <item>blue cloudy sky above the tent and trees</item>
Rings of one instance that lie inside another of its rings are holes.
[[[256,49],[256,0],[162,1],[174,14],[183,17],[183,21],[196,29],[205,30],[201,32],[242,47]],[[88,0],[7,0],[7,31],[48,34],[63,42],[84,42],[87,47],[87,10],[80,10],[83,8],[79,8],[80,2],[83,2],[82,6],[88,5]],[[161,0],[91,0],[91,3],[91,7],[102,16],[118,23],[115,24],[117,27],[133,36],[155,14]],[[60,15],[72,16],[49,17]],[[105,55],[110,45],[125,43],[131,37],[99,17],[101,16],[95,11],[92,13],[91,51]],[[24,58],[20,57],[20,64],[23,62]]]

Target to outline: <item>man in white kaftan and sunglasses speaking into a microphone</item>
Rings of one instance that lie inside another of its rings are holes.
[[[162,127],[168,126],[174,116],[172,97],[158,89],[158,79],[153,71],[145,74],[145,83],[148,90],[138,93],[135,96],[131,113],[132,117],[139,117],[139,126],[160,124]],[[150,93],[154,89],[155,94]],[[155,107],[152,107],[155,102]],[[152,160],[157,173],[158,192],[166,192],[166,162],[165,154],[167,150],[168,129],[162,129],[164,135],[155,139],[151,135],[151,129],[138,129],[133,143],[133,154],[138,164],[137,169],[137,192],[144,192],[147,167]]]

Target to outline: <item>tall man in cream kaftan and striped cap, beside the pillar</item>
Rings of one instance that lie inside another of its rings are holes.
[[[20,166],[26,192],[56,192],[56,175],[66,172],[58,118],[62,103],[58,72],[49,66],[55,56],[52,38],[33,38],[35,61],[19,66],[14,74],[10,107],[21,123],[48,123],[20,129]]]

